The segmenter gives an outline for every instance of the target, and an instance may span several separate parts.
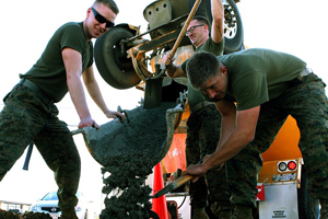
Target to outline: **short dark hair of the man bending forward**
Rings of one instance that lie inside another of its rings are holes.
[[[187,60],[187,77],[196,90],[200,90],[208,79],[218,74],[219,69],[219,59],[208,51],[197,51]]]

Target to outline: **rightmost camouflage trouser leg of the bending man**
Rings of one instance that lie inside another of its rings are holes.
[[[328,199],[328,101],[325,83],[309,74],[304,83],[289,90],[282,99],[301,131],[298,142],[308,173],[312,196]]]

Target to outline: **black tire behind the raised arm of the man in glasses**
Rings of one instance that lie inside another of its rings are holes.
[[[234,0],[225,0],[231,9],[232,12],[236,15],[236,34],[233,38],[225,37],[225,44],[224,44],[224,54],[231,54],[234,51],[238,51],[244,49],[244,27],[242,22],[242,16],[239,14],[239,10],[235,3]],[[189,0],[189,11],[192,9],[196,0]],[[199,4],[195,15],[202,15],[207,18],[207,20],[212,23],[212,14],[211,14],[211,1],[210,0],[202,0]]]

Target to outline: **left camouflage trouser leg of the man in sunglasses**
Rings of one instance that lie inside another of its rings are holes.
[[[46,122],[35,94],[16,85],[0,113],[0,181],[13,166]]]

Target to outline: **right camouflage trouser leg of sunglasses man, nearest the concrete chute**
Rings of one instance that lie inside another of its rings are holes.
[[[81,161],[67,125],[56,116],[51,117],[34,142],[55,173],[59,206],[62,210],[74,208],[78,204],[75,194],[80,181]]]

